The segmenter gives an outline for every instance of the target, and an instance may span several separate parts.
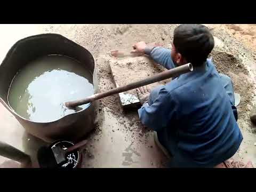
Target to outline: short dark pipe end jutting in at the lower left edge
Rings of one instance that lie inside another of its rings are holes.
[[[0,141],[0,155],[20,163],[27,163],[31,160],[29,155],[2,141]]]

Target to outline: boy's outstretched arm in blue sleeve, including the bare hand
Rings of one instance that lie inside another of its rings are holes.
[[[133,45],[133,52],[149,55],[156,63],[162,65],[166,69],[175,68],[171,58],[171,50],[161,46],[147,46],[145,42],[139,42]]]

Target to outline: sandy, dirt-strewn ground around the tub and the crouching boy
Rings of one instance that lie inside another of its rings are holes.
[[[138,41],[170,44],[178,25],[1,25],[0,59],[20,38],[40,33],[58,33],[84,46],[98,65],[99,92],[113,88],[107,55],[113,50],[131,50]],[[255,25],[206,25],[214,37],[211,57],[221,73],[233,79],[235,92],[241,94],[238,124],[243,143],[236,159],[252,160],[256,166],[256,128],[249,120],[255,105]],[[0,106],[0,140],[32,154],[35,139],[23,133],[15,118]],[[3,133],[3,134],[2,134]],[[117,95],[101,99],[97,128],[83,150],[82,167],[163,167],[163,154],[155,146],[153,133],[143,127],[137,111],[123,111]],[[129,148],[130,147],[130,148]],[[0,161],[5,161],[0,158]]]

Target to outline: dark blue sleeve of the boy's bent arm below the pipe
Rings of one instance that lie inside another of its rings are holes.
[[[175,102],[171,94],[163,87],[157,99],[150,106],[145,103],[139,110],[141,123],[154,131],[166,127],[169,122],[177,118],[178,102]]]

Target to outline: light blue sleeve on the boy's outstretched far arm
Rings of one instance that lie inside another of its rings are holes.
[[[171,50],[164,47],[146,47],[145,53],[166,69],[175,68],[171,58]]]

